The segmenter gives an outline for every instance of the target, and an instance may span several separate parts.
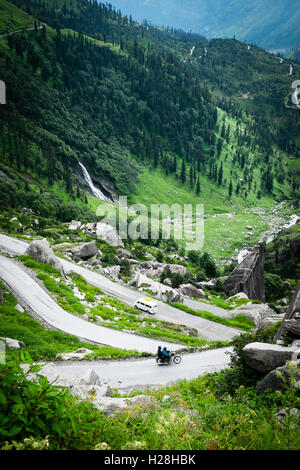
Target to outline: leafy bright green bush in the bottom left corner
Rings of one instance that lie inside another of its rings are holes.
[[[63,388],[53,387],[42,375],[40,366],[24,373],[18,364],[0,366],[0,444],[48,436],[52,443],[65,446],[74,432],[70,412],[74,398]],[[28,379],[37,374],[38,381]]]

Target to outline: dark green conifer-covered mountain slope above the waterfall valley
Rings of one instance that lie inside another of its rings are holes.
[[[5,207],[32,191],[83,207],[79,161],[138,202],[216,211],[297,197],[288,63],[236,40],[139,25],[88,0],[14,4],[22,10],[6,33],[18,15],[29,26],[1,38]]]

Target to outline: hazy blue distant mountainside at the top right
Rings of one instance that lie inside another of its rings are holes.
[[[114,0],[139,21],[173,26],[209,38],[233,37],[286,52],[299,42],[299,0]]]

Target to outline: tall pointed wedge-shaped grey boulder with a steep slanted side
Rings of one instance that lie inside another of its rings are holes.
[[[260,244],[246,256],[225,281],[225,292],[233,296],[245,292],[249,299],[265,301],[263,245]]]

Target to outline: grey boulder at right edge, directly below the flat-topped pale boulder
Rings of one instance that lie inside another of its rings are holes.
[[[300,387],[300,360],[294,361],[293,365],[293,375],[295,377],[296,383],[295,387]],[[282,367],[277,367],[276,369],[269,372],[263,380],[261,380],[256,385],[256,390],[259,393],[263,393],[266,390],[286,390],[287,386],[291,382],[291,368],[289,365],[284,365]]]

